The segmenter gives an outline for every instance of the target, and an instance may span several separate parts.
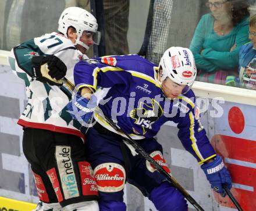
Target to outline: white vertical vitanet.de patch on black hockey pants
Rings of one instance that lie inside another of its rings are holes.
[[[70,146],[56,146],[55,155],[65,199],[79,196]]]

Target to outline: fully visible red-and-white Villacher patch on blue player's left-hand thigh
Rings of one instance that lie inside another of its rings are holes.
[[[99,191],[118,192],[125,186],[125,169],[118,163],[99,164],[94,169],[94,175]]]

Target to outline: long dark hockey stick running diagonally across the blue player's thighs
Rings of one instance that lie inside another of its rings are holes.
[[[67,80],[65,77],[62,79],[63,83],[65,83],[67,85],[67,87],[70,88],[70,90],[76,90],[76,87],[74,87],[74,85]],[[95,108],[95,110],[99,113],[101,112],[101,109],[98,108],[98,106]],[[102,114],[103,115],[103,114]],[[182,194],[183,196],[187,199],[187,201],[189,201],[191,203],[191,205],[194,206],[194,208],[196,210],[199,211],[204,211],[204,209],[201,208],[201,206],[195,201],[195,199],[186,191],[186,189],[184,189],[176,180],[175,178],[173,178],[172,176],[170,176],[170,174],[168,174],[163,168],[162,166],[160,166],[154,159],[151,158],[150,155],[148,155],[147,152],[144,151],[143,148],[141,148],[140,145],[137,144],[137,142],[135,140],[133,140],[130,135],[128,135],[127,133],[123,132],[121,130],[121,128],[119,126],[117,126],[112,119],[109,119],[107,116],[103,115],[102,116],[106,122],[116,131],[118,131],[119,133],[122,133],[123,135],[125,135],[126,141],[133,146],[133,148],[135,149],[135,151],[137,153],[139,153],[140,155],[143,156],[143,158],[145,158],[145,160],[148,160],[148,162],[150,162],[150,164],[152,164],[152,166],[155,167],[155,169],[157,169],[157,171],[159,173],[161,173],[163,176],[165,176],[165,178],[169,181],[170,184],[173,185],[173,187],[177,188]]]

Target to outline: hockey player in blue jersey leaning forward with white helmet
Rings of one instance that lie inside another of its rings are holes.
[[[74,119],[87,122],[94,107],[91,92],[98,87],[109,88],[99,108],[168,173],[162,146],[154,136],[166,121],[177,123],[184,148],[201,164],[211,187],[223,194],[222,185],[231,188],[232,180],[199,121],[195,95],[190,89],[196,72],[193,54],[182,47],[166,50],[159,66],[138,55],[84,60],[74,67],[79,92],[67,107]],[[87,155],[94,169],[101,211],[126,210],[126,181],[140,189],[158,210],[187,210],[184,196],[122,141],[125,135],[113,130],[96,110],[94,121],[87,131]]]

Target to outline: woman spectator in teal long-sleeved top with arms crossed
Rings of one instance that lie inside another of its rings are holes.
[[[197,80],[225,84],[227,76],[237,76],[239,49],[248,40],[247,1],[209,0],[211,13],[201,17],[190,49],[197,65]]]

